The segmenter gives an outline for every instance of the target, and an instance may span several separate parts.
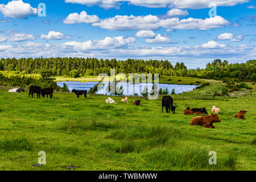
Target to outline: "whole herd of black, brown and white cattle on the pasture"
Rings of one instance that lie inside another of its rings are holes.
[[[20,92],[25,92],[25,90],[23,88],[16,88],[16,89],[11,89],[9,90],[9,92],[16,92],[16,93],[20,93]],[[87,95],[87,90],[72,90],[73,93],[76,94],[77,98],[79,98],[79,96],[84,95],[84,97],[86,98]],[[43,97],[48,95],[51,97],[53,97],[53,89],[52,88],[40,88],[40,86],[30,86],[30,93],[28,94],[28,97],[30,97],[30,94],[33,98],[33,94],[36,93],[37,97],[40,98],[40,95],[42,94]],[[117,104],[112,98],[107,98],[105,101],[107,104]],[[128,102],[128,97],[125,97],[121,100],[121,102],[126,102],[127,104]],[[175,114],[175,109],[176,107],[173,105],[174,104],[174,100],[172,99],[171,96],[163,96],[162,98],[162,112],[163,112],[163,107],[166,107],[166,113],[170,113],[170,111],[172,111],[172,113]],[[133,102],[133,105],[135,106],[140,106],[141,105],[141,101],[140,100],[136,100]],[[203,108],[193,108],[190,109],[190,107],[187,107],[184,110],[184,115],[192,115],[192,114],[196,114],[196,115],[201,115],[201,114],[206,114],[205,116],[197,116],[195,118],[192,118],[190,121],[190,125],[199,125],[199,126],[203,126],[203,127],[208,127],[208,128],[215,128],[215,126],[213,126],[214,122],[221,122],[221,119],[218,118],[217,113],[220,112],[220,108],[216,108],[216,106],[212,106],[212,114],[208,115],[207,110],[205,109],[205,107]],[[240,119],[245,119],[245,113],[247,113],[247,111],[245,110],[241,110],[239,111],[236,115],[234,115],[235,118],[240,118]]]

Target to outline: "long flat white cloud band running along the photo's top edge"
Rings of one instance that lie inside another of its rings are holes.
[[[118,8],[120,2],[128,2],[131,5],[144,7],[171,7],[179,9],[204,9],[208,8],[210,3],[217,6],[236,6],[238,3],[249,2],[249,0],[65,0],[67,3],[79,3],[87,6],[101,6],[105,9]]]

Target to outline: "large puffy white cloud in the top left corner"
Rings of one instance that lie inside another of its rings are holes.
[[[31,7],[30,4],[18,0],[9,1],[7,5],[0,4],[0,11],[5,17],[23,19],[27,16],[35,16],[38,10]]]

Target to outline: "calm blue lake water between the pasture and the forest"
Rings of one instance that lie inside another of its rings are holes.
[[[96,81],[89,81],[89,82],[79,82],[79,81],[59,81],[57,82],[57,85],[60,87],[63,87],[63,84],[68,85],[69,90],[88,90],[90,88],[93,88],[94,85],[96,85],[98,82]],[[97,94],[107,94],[106,88],[108,86],[108,82],[103,82],[105,85],[102,86],[101,90],[98,90]],[[141,96],[141,92],[144,89],[145,86],[148,88],[148,92],[150,93],[153,84],[146,84],[146,83],[139,83],[139,84],[130,84],[130,83],[124,83],[124,82],[118,82],[117,86],[123,86],[123,95],[125,96],[133,96],[134,93],[137,93],[138,96]],[[198,85],[175,85],[175,84],[159,84],[158,89],[162,88],[168,89],[169,93],[172,92],[172,89],[175,89],[175,93],[182,93],[182,92],[188,92],[196,88]]]

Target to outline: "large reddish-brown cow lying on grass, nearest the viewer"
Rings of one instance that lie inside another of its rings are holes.
[[[197,116],[192,118],[190,121],[190,125],[199,125],[203,127],[215,128],[212,124],[214,122],[221,122],[220,118],[218,118],[217,114],[207,115],[207,116]]]

